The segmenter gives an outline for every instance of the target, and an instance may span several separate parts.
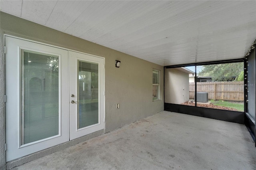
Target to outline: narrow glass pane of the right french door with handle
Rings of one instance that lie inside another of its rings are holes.
[[[99,122],[98,63],[78,61],[78,128]]]

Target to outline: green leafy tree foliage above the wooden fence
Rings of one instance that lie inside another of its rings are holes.
[[[212,77],[213,81],[230,81],[233,77],[236,77],[235,81],[238,81],[238,76],[242,74],[243,70],[243,63],[212,64],[202,66],[202,71],[198,75]]]

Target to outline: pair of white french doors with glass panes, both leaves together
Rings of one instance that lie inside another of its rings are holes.
[[[6,162],[104,129],[104,59],[9,36],[5,45]]]

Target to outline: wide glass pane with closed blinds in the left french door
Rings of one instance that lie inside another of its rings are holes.
[[[22,145],[59,134],[58,61],[58,56],[22,49]]]

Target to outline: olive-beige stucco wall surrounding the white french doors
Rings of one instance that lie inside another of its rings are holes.
[[[84,53],[105,57],[105,114],[106,130],[132,123],[138,119],[148,117],[164,109],[164,67],[148,61],[115,51],[113,49],[82,40],[80,38],[23,20],[21,18],[1,12],[1,88],[0,88],[0,140],[1,166],[4,144],[4,68],[3,66],[3,34],[26,38],[37,42],[48,43]],[[121,61],[120,68],[115,67],[115,60]],[[152,69],[160,70],[161,99],[152,101]],[[116,104],[120,109],[116,109]]]

